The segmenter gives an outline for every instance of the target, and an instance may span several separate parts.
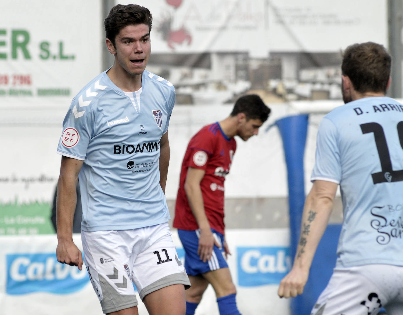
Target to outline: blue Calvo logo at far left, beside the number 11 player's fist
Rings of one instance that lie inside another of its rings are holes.
[[[59,263],[55,253],[10,254],[7,262],[7,294],[50,292],[66,294],[81,290],[89,277],[85,267]]]

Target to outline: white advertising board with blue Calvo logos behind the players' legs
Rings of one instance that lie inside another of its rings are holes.
[[[289,314],[289,300],[276,295],[278,284],[289,270],[288,229],[228,230],[228,263],[237,287],[239,311],[244,315]],[[75,244],[81,247],[79,234]],[[184,251],[177,232],[172,232],[179,259]],[[68,315],[102,314],[85,268],[58,263],[56,235],[0,237],[1,314]],[[139,313],[147,310],[140,298]],[[218,315],[216,296],[206,290],[196,315]]]

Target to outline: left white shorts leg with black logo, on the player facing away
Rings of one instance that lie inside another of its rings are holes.
[[[359,272],[359,267],[335,268],[311,315],[375,315],[383,292]]]

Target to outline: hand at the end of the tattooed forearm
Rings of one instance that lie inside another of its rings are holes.
[[[295,298],[298,294],[302,294],[303,288],[308,280],[309,270],[304,271],[297,267],[293,267],[291,271],[281,280],[277,294],[280,298]]]

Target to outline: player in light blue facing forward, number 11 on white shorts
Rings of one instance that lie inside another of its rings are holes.
[[[175,89],[145,70],[147,8],[118,4],[104,25],[114,64],[73,99],[58,144],[57,259],[83,265],[72,240],[78,181],[85,265],[102,311],[138,315],[133,282],[150,315],[184,315],[190,282],[164,195]]]

